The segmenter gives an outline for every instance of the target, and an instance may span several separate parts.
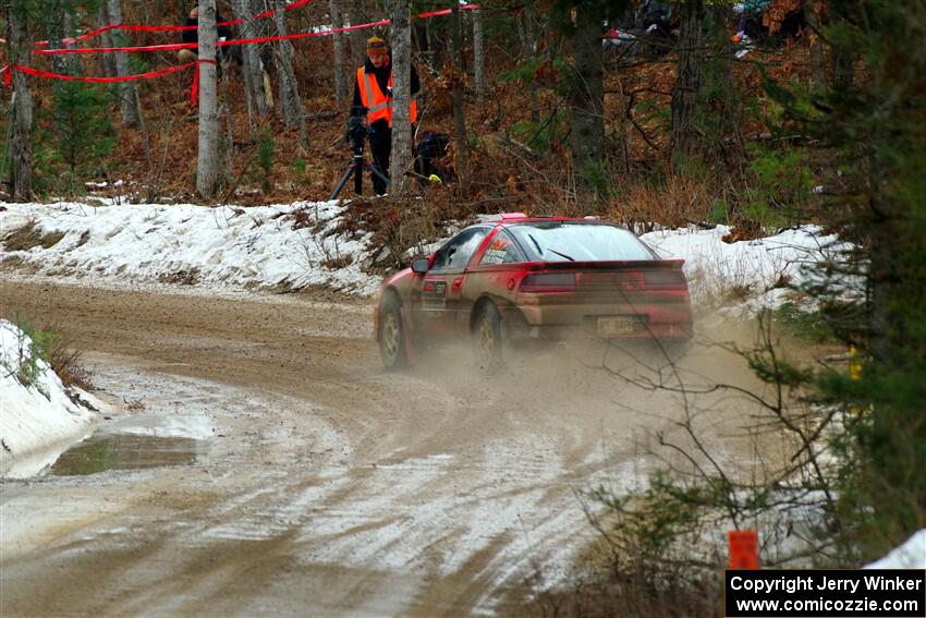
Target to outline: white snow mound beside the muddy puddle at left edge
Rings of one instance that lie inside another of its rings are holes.
[[[98,414],[71,401],[61,380],[41,360],[35,384],[16,378],[20,350],[32,341],[19,328],[0,319],[0,476],[32,476],[52,463],[61,448],[87,437]],[[102,403],[78,391],[97,409]]]

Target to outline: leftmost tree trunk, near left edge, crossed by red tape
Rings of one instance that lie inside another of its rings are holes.
[[[13,0],[4,2],[7,10],[7,40],[10,66],[29,65],[32,38],[28,32],[28,15],[22,8],[14,8]],[[32,197],[32,92],[27,76],[10,69],[13,81],[12,132],[10,137],[10,194],[14,201],[26,202]]]

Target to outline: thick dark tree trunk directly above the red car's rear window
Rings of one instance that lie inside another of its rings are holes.
[[[576,169],[605,160],[605,86],[601,19],[594,7],[580,4],[573,48],[575,74],[570,87],[572,158]]]

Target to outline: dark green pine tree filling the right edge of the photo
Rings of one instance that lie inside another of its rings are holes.
[[[926,525],[926,7],[838,0],[829,9],[832,85],[809,98],[771,81],[768,90],[819,147],[834,194],[825,222],[858,247],[814,293],[867,358],[861,379],[827,374],[818,392],[867,411],[853,424],[857,455],[841,492],[854,520],[845,545],[861,546],[864,560]],[[863,300],[846,301],[845,275],[866,282]]]

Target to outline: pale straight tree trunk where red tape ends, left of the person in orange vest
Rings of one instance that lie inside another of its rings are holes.
[[[216,0],[199,0],[199,157],[196,191],[205,198],[216,193],[219,178],[219,113],[216,96]]]

